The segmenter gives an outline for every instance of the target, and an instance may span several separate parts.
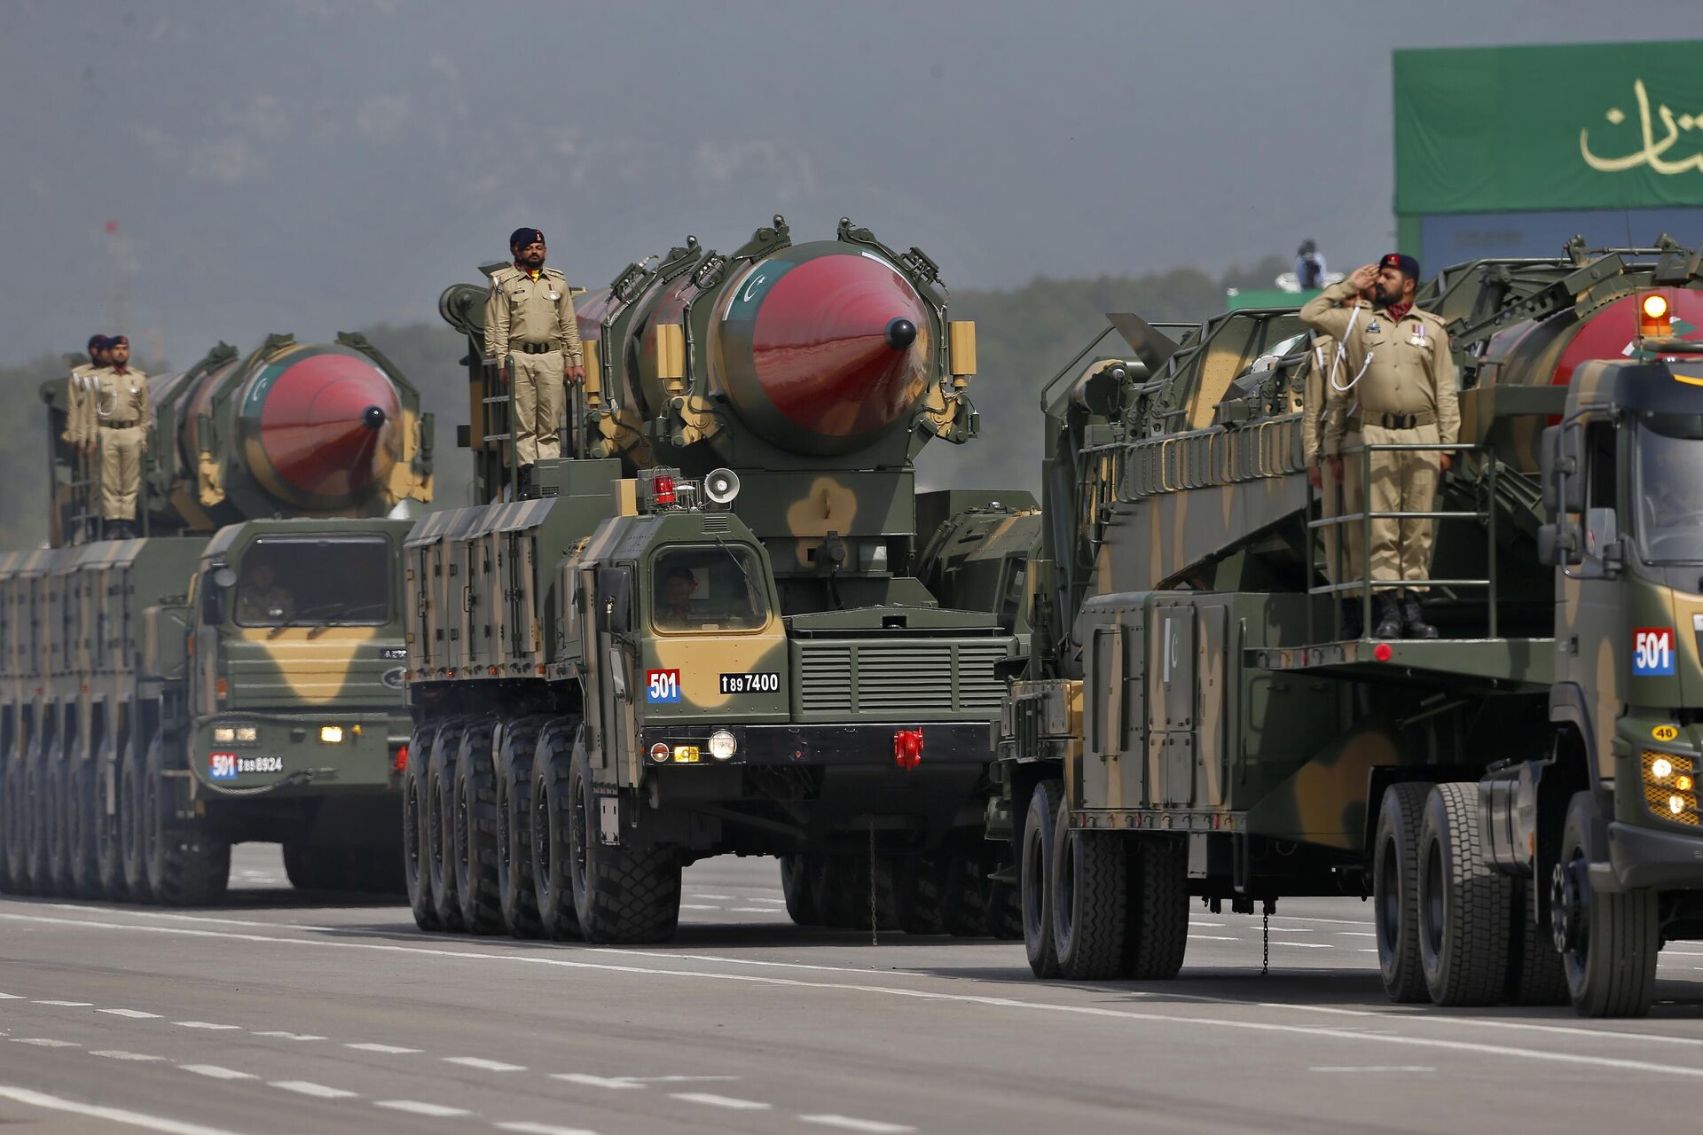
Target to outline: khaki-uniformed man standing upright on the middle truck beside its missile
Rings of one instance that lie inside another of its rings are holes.
[[[504,383],[514,383],[514,459],[519,493],[536,495],[533,466],[562,453],[562,379],[582,383],[579,322],[567,279],[543,265],[545,242],[536,228],[509,235],[514,265],[490,274],[485,299],[485,354],[496,357]]]

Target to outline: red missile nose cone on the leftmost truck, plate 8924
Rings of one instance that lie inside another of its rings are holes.
[[[322,502],[356,497],[393,461],[385,424],[400,412],[397,391],[361,354],[286,354],[250,388],[244,417],[250,417],[257,396],[261,449],[298,493]]]

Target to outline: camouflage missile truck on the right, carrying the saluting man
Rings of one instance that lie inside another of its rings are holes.
[[[1190,897],[1340,893],[1393,1001],[1647,1009],[1703,938],[1700,264],[1575,242],[1422,291],[1463,376],[1437,640],[1340,633],[1320,536],[1378,514],[1308,487],[1293,310],[1112,317],[1127,352],[1061,371],[989,807],[1037,975],[1168,978]]]

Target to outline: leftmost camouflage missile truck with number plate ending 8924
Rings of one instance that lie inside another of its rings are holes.
[[[152,386],[133,539],[100,538],[65,393],[53,546],[0,555],[0,883],[206,904],[232,844],[274,841],[296,887],[400,890],[414,388],[358,335],[220,344]]]

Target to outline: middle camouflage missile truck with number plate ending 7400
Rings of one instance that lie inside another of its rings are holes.
[[[630,265],[577,301],[591,378],[538,500],[513,499],[484,298],[439,310],[492,504],[409,536],[419,926],[661,941],[681,868],[732,853],[782,858],[799,922],[1013,934],[981,813],[1018,628],[918,579],[966,555],[920,558],[911,459],[976,432],[933,262],[775,218]]]

